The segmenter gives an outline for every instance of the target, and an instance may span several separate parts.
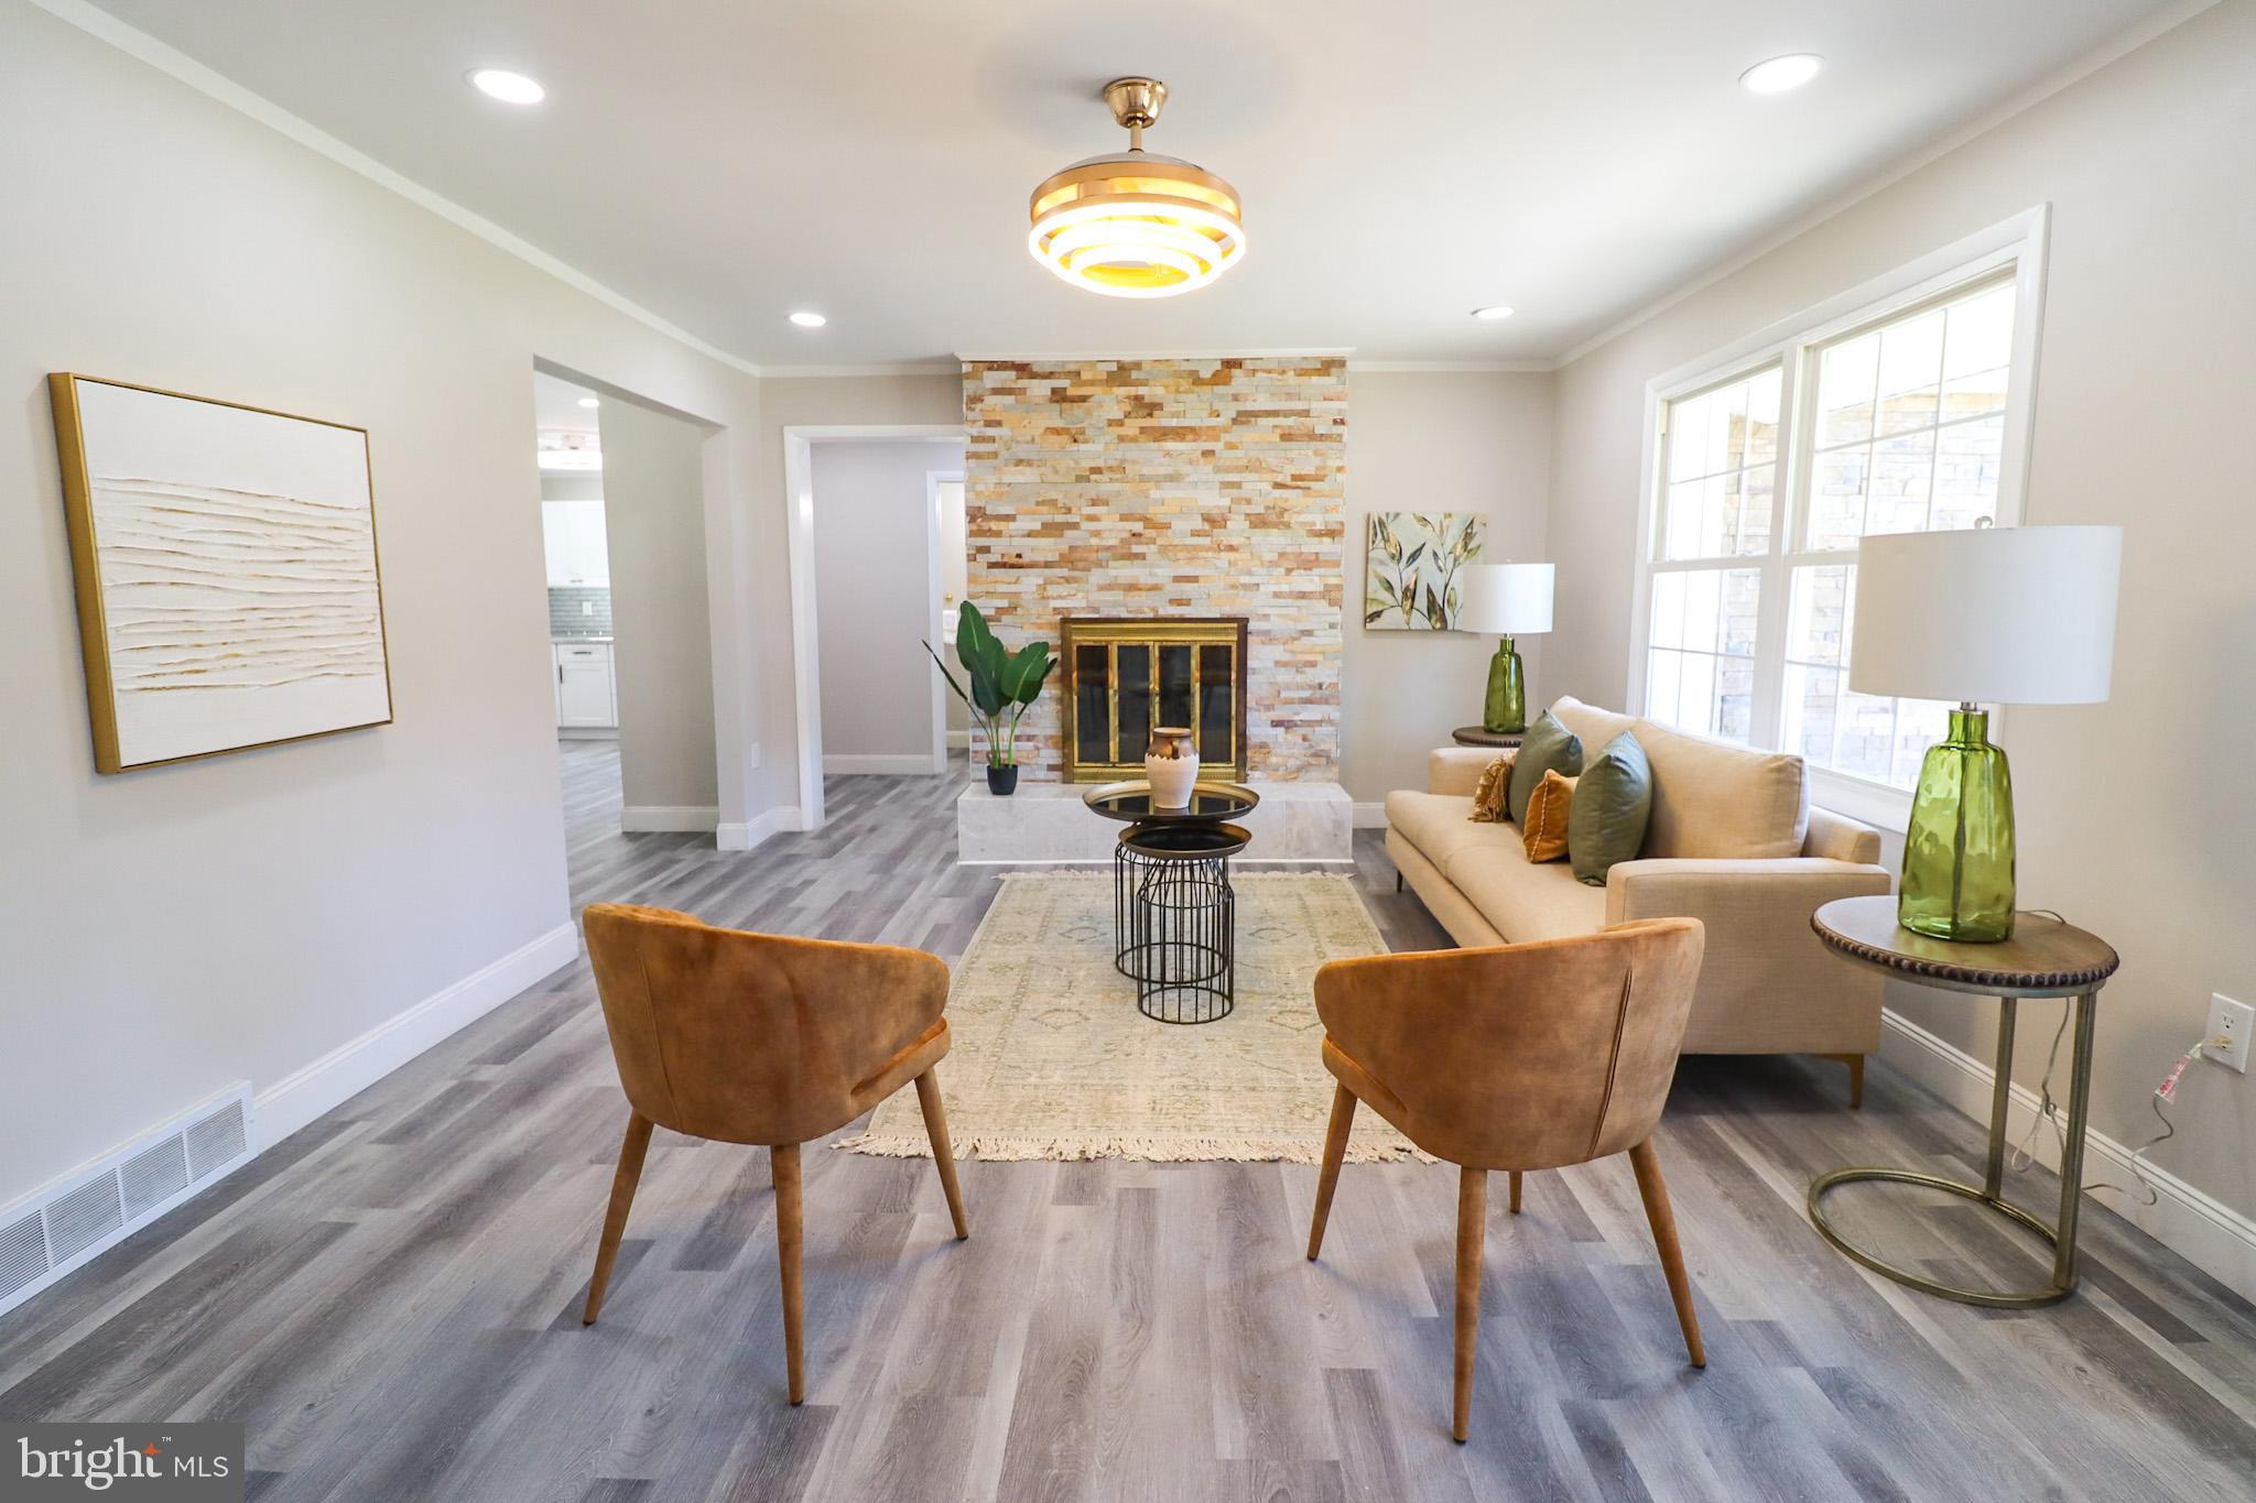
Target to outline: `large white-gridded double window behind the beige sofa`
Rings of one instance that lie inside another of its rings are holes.
[[[1631,701],[1800,753],[1866,818],[1902,813],[1949,705],[1850,692],[1857,543],[2019,521],[2042,214],[1990,237],[1654,383]]]

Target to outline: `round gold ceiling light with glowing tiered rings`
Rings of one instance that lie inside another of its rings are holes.
[[[1029,205],[1033,259],[1105,297],[1173,297],[1236,266],[1245,255],[1239,189],[1202,167],[1144,151],[1166,83],[1112,79],[1105,104],[1128,131],[1128,151],[1042,178]]]

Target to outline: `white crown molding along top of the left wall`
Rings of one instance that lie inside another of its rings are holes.
[[[503,230],[492,219],[485,219],[483,214],[476,214],[474,210],[462,207],[453,198],[447,198],[444,194],[438,194],[438,192],[424,187],[422,183],[408,178],[406,174],[386,167],[384,162],[379,162],[377,158],[368,155],[365,151],[347,146],[345,142],[341,142],[338,137],[329,135],[327,131],[323,131],[314,122],[284,110],[273,99],[266,99],[264,95],[257,95],[257,92],[244,88],[235,79],[217,72],[212,68],[205,68],[203,63],[199,63],[196,59],[187,56],[178,47],[174,47],[169,43],[162,43],[162,41],[149,36],[142,29],[131,27],[131,25],[117,20],[108,11],[104,11],[104,9],[95,7],[95,5],[88,5],[88,0],[32,0],[32,5],[36,5],[43,11],[47,11],[56,20],[74,25],[77,29],[86,32],[95,41],[108,43],[111,47],[117,47],[126,56],[131,56],[131,59],[135,59],[140,63],[147,63],[149,68],[156,68],[158,72],[162,72],[162,74],[167,74],[167,77],[171,77],[171,79],[190,86],[199,95],[217,99],[219,104],[228,106],[230,110],[237,110],[239,115],[248,115],[250,119],[259,122],[268,131],[277,131],[280,135],[287,135],[289,140],[298,142],[300,146],[305,146],[305,149],[309,149],[309,151],[314,151],[318,155],[329,158],[338,167],[347,167],[347,169],[361,174],[363,178],[368,178],[377,187],[386,187],[386,189],[399,194],[402,198],[406,198],[415,207],[429,210],[431,214],[438,214],[440,219],[444,219],[447,223],[451,223],[451,225],[456,225],[460,230],[469,230],[472,234],[476,234],[485,243],[490,243],[490,246],[494,246],[499,250],[505,250],[508,255],[517,257],[519,261],[526,261],[528,266],[535,266],[535,268],[548,273],[557,282],[564,282],[566,286],[587,293],[596,302],[602,302],[605,306],[609,306],[609,309],[614,309],[618,313],[625,313],[627,318],[636,320],[638,324],[643,324],[643,327],[647,327],[647,329],[652,329],[656,333],[663,333],[666,338],[670,338],[670,340],[675,340],[679,345],[686,345],[688,349],[695,349],[697,354],[702,354],[702,356],[706,356],[711,361],[720,361],[722,365],[726,365],[731,370],[744,372],[747,376],[763,374],[760,367],[754,365],[751,361],[747,361],[744,356],[731,354],[731,352],[722,349],[720,345],[713,345],[708,340],[697,338],[695,333],[690,333],[681,324],[670,322],[670,320],[652,313],[643,304],[634,302],[632,297],[627,297],[625,293],[620,293],[620,291],[611,288],[611,286],[605,286],[602,282],[598,282],[596,277],[587,275],[578,266],[573,266],[573,264],[569,264],[569,261],[564,261],[559,257],[548,255],[546,250],[541,250],[532,241],[521,239],[521,237]]]

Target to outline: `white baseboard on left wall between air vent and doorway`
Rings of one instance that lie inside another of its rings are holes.
[[[557,924],[548,933],[478,967],[451,987],[426,996],[402,1014],[377,1023],[309,1066],[291,1070],[255,1097],[257,1138],[253,1154],[377,1084],[415,1055],[456,1034],[510,1000],[550,971],[580,958],[580,926]]]

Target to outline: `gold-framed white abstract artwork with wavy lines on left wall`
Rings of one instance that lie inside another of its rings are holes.
[[[47,376],[95,768],[393,719],[368,433]]]

